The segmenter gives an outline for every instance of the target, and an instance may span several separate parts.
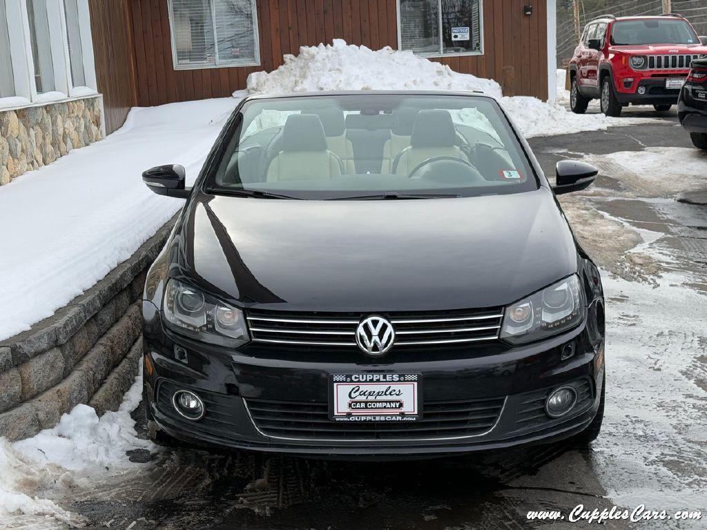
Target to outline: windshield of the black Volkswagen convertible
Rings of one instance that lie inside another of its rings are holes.
[[[252,100],[224,141],[211,193],[397,199],[537,189],[501,109],[472,95]]]

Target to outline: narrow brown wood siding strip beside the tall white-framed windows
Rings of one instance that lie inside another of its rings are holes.
[[[137,105],[131,0],[89,0],[98,91],[103,94],[105,132],[125,122]]]

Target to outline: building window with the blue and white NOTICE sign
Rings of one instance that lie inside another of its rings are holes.
[[[397,0],[399,49],[426,57],[484,53],[481,0]]]

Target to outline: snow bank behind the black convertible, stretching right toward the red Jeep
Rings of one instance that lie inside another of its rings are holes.
[[[603,114],[573,114],[559,102],[517,96],[503,98],[501,86],[491,79],[458,73],[449,66],[385,47],[377,51],[346,45],[300,47],[298,56],[285,55],[284,64],[248,76],[251,94],[281,94],[317,90],[482,90],[501,100],[525,136],[552,136],[631,125],[645,119],[609,118]],[[559,83],[559,81],[558,81]],[[564,90],[564,78],[562,81]],[[235,94],[234,94],[235,95]]]

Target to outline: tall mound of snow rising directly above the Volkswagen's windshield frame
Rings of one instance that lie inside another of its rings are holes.
[[[317,90],[483,90],[501,96],[496,81],[452,71],[449,66],[390,47],[373,51],[365,46],[303,46],[295,57],[270,73],[248,76],[247,90],[254,94],[309,92]]]

